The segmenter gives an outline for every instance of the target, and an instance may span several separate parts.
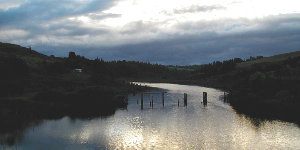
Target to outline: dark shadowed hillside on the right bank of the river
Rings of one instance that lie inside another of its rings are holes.
[[[239,112],[299,122],[300,52],[198,66],[191,82],[227,90]]]

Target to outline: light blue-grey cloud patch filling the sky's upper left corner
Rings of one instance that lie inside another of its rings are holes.
[[[0,10],[1,27],[15,27],[32,30],[33,26],[44,25],[53,20],[66,17],[101,12],[112,6],[117,0],[91,0],[89,3],[70,0],[30,0],[21,6],[8,10]],[[96,19],[96,15],[92,16]],[[104,14],[98,19],[116,17],[114,14]]]

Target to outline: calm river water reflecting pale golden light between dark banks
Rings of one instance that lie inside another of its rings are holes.
[[[160,94],[129,95],[127,109],[106,118],[74,120],[68,117],[30,127],[12,150],[97,149],[300,149],[300,128],[281,121],[255,121],[223,103],[223,92],[199,86],[147,84],[165,89]],[[208,92],[208,105],[201,104]],[[188,106],[183,107],[183,93]],[[154,108],[149,100],[154,99]],[[180,99],[180,106],[177,101]]]

